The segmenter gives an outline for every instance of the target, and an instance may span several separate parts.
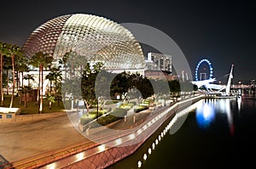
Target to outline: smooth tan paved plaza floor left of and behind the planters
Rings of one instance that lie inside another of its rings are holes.
[[[111,128],[137,126],[150,112],[135,113],[137,123],[133,123],[133,115],[130,115],[126,122],[119,121]],[[11,163],[71,145],[92,142],[73,127],[65,112],[38,121],[0,123],[0,130],[0,155]]]

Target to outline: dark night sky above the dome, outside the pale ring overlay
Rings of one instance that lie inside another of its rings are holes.
[[[181,48],[193,74],[206,58],[213,77],[221,79],[234,64],[234,82],[244,82],[256,79],[256,5],[251,2],[2,0],[0,41],[22,46],[34,29],[57,16],[96,14],[165,32]]]

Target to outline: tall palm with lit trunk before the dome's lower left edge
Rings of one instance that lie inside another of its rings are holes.
[[[44,54],[43,52],[38,52],[32,56],[30,64],[34,67],[39,68],[39,79],[38,79],[38,87],[40,88],[40,106],[39,112],[43,112],[43,84],[44,84],[44,68],[48,68],[51,65],[53,57],[49,56],[49,54]],[[41,83],[41,84],[40,84]],[[38,88],[38,90],[39,90]]]

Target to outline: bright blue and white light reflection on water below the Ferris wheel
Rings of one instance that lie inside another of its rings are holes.
[[[238,103],[239,106],[239,103]],[[206,129],[211,126],[218,113],[226,114],[230,127],[230,134],[234,134],[233,117],[230,109],[230,99],[201,100],[196,110],[196,121],[199,127]]]

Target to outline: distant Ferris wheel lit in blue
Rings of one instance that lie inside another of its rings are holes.
[[[208,59],[201,59],[195,68],[195,81],[212,79],[212,64]]]

